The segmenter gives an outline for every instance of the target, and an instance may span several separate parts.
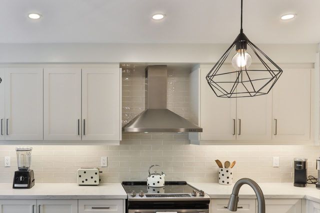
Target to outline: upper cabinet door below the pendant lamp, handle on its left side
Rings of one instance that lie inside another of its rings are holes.
[[[272,92],[236,99],[237,140],[271,140]]]

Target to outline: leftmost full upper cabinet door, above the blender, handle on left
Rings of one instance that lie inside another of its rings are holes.
[[[42,68],[6,68],[6,140],[43,139]]]

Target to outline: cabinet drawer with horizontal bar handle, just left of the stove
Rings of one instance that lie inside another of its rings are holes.
[[[79,199],[78,213],[123,213],[122,199]]]

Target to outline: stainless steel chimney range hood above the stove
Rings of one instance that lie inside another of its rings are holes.
[[[145,69],[145,110],[122,127],[125,132],[201,132],[202,128],[166,108],[166,65]]]

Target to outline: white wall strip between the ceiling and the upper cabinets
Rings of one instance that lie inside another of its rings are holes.
[[[231,42],[231,41],[230,41]],[[0,43],[0,63],[216,62],[230,44]],[[259,44],[274,62],[314,62],[317,44]]]

